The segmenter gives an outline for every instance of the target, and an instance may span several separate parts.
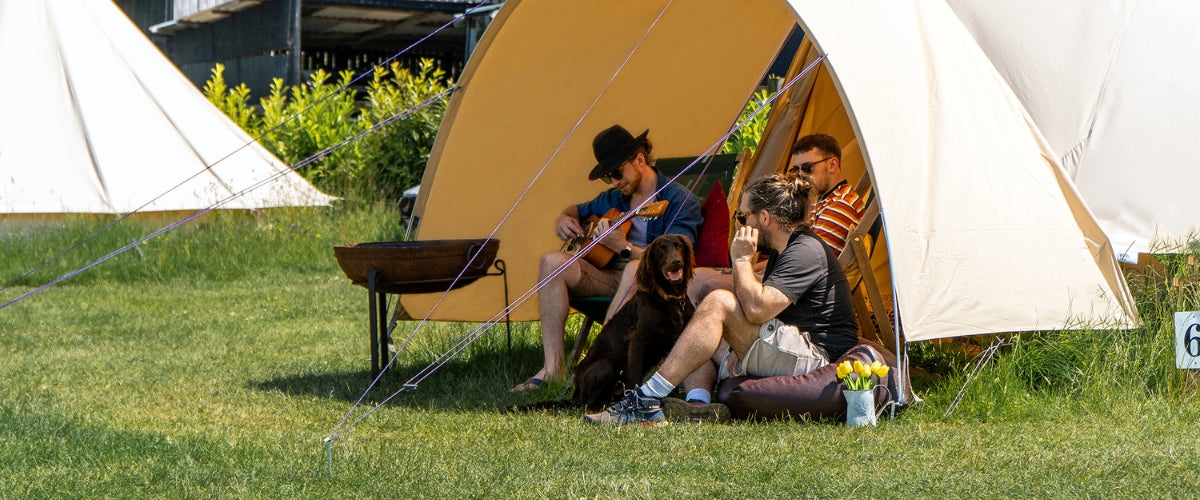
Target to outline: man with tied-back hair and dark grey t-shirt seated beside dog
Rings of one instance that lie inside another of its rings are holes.
[[[832,248],[806,223],[816,192],[803,174],[772,175],[746,187],[736,215],[743,225],[730,243],[733,290],[708,294],[659,371],[584,418],[618,426],[661,423],[668,414],[690,420],[695,406],[667,398],[685,378],[708,376],[710,387],[731,376],[800,375],[853,348],[858,325],[850,284]],[[761,279],[751,265],[760,249],[772,252]]]

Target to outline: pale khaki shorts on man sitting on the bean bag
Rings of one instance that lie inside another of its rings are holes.
[[[826,365],[828,355],[808,332],[773,319],[758,327],[758,338],[750,344],[745,360],[738,360],[733,349],[725,353],[716,378],[803,375]]]

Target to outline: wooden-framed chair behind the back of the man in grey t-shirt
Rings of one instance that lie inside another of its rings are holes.
[[[854,301],[854,313],[858,315],[862,337],[876,341],[896,353],[898,345],[888,317],[888,305],[883,301],[883,294],[880,293],[880,284],[871,266],[871,257],[878,248],[880,231],[883,229],[878,197],[875,195],[866,173],[863,173],[854,191],[863,197],[866,210],[863,212],[863,219],[846,236],[846,248],[841,251],[838,261],[846,270],[846,277],[851,279],[851,299]]]

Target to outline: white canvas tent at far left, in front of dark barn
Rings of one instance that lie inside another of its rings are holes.
[[[198,210],[287,170],[109,0],[0,0],[0,213]],[[288,171],[222,207],[330,199]]]

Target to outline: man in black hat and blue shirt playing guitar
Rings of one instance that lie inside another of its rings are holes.
[[[598,269],[584,259],[568,265],[558,276],[550,279],[538,291],[538,307],[541,313],[541,341],[545,363],[541,371],[529,380],[514,387],[514,391],[538,388],[546,380],[563,379],[564,337],[566,314],[570,312],[571,296],[613,296],[622,283],[622,271],[631,261],[641,258],[642,251],[654,239],[667,234],[679,234],[692,243],[700,231],[703,218],[700,215],[700,200],[686,188],[671,182],[670,177],[660,175],[653,167],[650,156],[653,145],[642,132],[634,137],[624,127],[613,125],[596,134],[592,140],[592,152],[596,165],[588,174],[588,180],[604,180],[612,185],[590,201],[569,205],[554,221],[554,234],[562,240],[583,236],[581,221],[590,216],[602,217],[611,209],[622,213],[643,201],[666,200],[666,211],[656,218],[632,217],[628,234],[611,231],[598,245],[612,249],[618,258],[604,269]],[[608,222],[598,223],[600,231],[607,229]],[[541,258],[539,282],[553,275],[572,255],[564,252],[547,253]],[[634,266],[636,269],[636,265]],[[628,278],[626,278],[628,279]]]

